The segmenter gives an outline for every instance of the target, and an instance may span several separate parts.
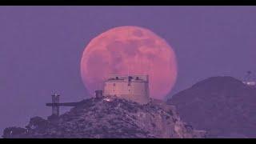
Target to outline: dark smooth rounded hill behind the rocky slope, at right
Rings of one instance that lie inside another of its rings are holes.
[[[183,121],[213,138],[256,138],[256,89],[232,77],[212,77],[168,100]]]

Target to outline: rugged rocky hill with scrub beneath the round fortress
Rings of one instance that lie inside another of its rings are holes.
[[[204,138],[186,125],[174,106],[146,105],[121,98],[90,98],[59,118],[35,117],[26,128],[9,127],[3,138]]]

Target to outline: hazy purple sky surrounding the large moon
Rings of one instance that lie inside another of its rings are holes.
[[[0,132],[50,115],[50,94],[86,98],[82,51],[115,26],[146,27],[178,60],[171,94],[216,75],[256,72],[256,6],[0,6]],[[63,110],[63,109],[62,109]]]

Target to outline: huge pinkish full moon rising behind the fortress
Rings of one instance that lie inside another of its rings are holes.
[[[150,98],[164,99],[177,78],[174,50],[152,31],[120,26],[93,38],[81,60],[81,76],[90,94],[102,90],[109,74],[148,74]]]

